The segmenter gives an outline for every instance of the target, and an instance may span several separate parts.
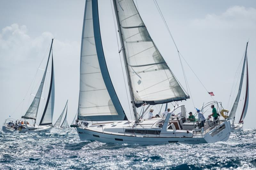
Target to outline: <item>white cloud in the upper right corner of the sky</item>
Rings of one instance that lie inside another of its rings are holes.
[[[232,6],[220,15],[207,14],[205,18],[194,19],[191,25],[202,29],[255,29],[256,10],[244,6]]]

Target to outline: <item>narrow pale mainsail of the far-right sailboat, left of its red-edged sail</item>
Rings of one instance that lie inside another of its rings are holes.
[[[244,79],[244,69],[245,69],[245,62],[246,62],[246,56],[247,56],[247,47],[248,47],[248,42],[246,43],[246,49],[245,49],[245,54],[244,54],[244,64],[243,64],[243,69],[242,69],[242,74],[241,74],[241,79],[240,79],[238,93],[237,93],[234,105],[233,105],[233,107],[232,107],[232,109],[230,111],[230,114],[228,116],[228,119],[235,119],[236,109],[237,109],[238,102],[239,102],[240,95],[241,95],[241,91],[242,91],[242,85],[243,85],[243,79]],[[234,120],[233,120],[233,122],[234,122]]]

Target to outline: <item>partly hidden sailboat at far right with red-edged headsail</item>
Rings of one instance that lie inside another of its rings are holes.
[[[238,89],[238,92],[237,92],[236,100],[235,100],[235,102],[233,104],[233,107],[230,111],[230,114],[228,116],[228,119],[232,121],[232,123],[231,123],[231,132],[238,132],[238,131],[243,130],[244,118],[245,118],[245,115],[247,113],[247,108],[248,108],[249,77],[248,77],[247,47],[248,47],[248,42],[246,43],[246,49],[245,49],[245,54],[244,54],[244,63],[243,63],[243,69],[242,69],[242,73],[241,73],[239,89]],[[240,100],[240,95],[241,95],[243,81],[244,81],[245,65],[246,65],[246,78],[245,78],[246,85],[245,85],[244,106],[243,106],[243,110],[242,110],[239,122],[235,123],[235,115],[236,115],[238,103],[239,103],[239,100]]]

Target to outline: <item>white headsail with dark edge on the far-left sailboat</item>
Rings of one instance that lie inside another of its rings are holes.
[[[51,82],[49,87],[49,92],[46,100],[46,104],[44,107],[44,112],[42,114],[39,125],[51,125],[52,124],[52,116],[54,110],[54,69],[53,69],[53,57],[52,57],[52,70],[51,70]]]

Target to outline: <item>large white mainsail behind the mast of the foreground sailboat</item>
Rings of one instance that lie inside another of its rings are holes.
[[[114,0],[136,107],[186,100],[164,58],[156,48],[133,0]]]

